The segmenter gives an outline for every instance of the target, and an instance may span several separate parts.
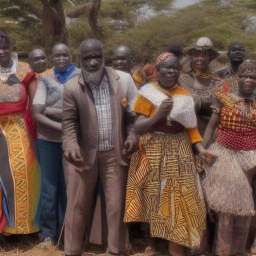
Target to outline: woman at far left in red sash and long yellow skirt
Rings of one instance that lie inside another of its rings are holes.
[[[11,53],[9,36],[0,32],[0,232],[4,234],[39,231],[41,175],[26,127],[29,88],[22,79],[27,71],[28,64]]]

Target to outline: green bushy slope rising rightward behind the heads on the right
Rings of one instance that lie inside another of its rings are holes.
[[[170,16],[160,14],[140,22],[124,33],[115,32],[104,41],[107,53],[116,44],[123,43],[131,47],[135,62],[153,61],[168,43],[179,42],[187,46],[200,36],[211,38],[218,50],[226,50],[233,40],[244,41],[248,50],[254,50],[256,33],[245,32],[243,20],[248,15],[256,15],[255,2],[230,2],[232,7],[225,7],[219,0],[206,0],[177,10]]]

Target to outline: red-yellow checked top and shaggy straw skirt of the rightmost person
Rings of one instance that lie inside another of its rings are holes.
[[[218,157],[212,166],[204,166],[207,205],[215,212],[254,215],[250,182],[256,170],[256,96],[241,98],[218,90],[214,97],[212,108],[220,114],[220,124],[209,150]]]

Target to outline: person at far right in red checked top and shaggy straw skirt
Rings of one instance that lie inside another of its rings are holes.
[[[202,181],[208,210],[215,215],[213,253],[244,253],[251,216],[255,214],[251,181],[256,171],[256,62],[238,68],[238,91],[213,94],[203,144],[218,155],[204,165]],[[217,130],[216,141],[210,143]]]

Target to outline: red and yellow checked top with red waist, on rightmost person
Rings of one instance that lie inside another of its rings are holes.
[[[217,143],[234,151],[255,150],[255,97],[240,98],[234,93],[218,90],[215,98],[221,104]]]

